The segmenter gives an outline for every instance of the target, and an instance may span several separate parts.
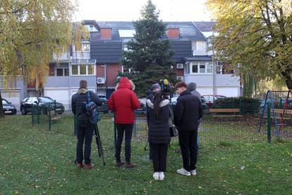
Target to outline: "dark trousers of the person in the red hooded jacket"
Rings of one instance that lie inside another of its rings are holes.
[[[125,132],[125,160],[130,162],[130,140],[132,139],[133,124],[116,124],[118,138],[116,140],[116,162],[121,162],[121,144]]]

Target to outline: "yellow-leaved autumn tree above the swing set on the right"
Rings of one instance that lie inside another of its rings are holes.
[[[292,0],[207,0],[207,6],[222,60],[244,75],[281,78],[292,89]]]

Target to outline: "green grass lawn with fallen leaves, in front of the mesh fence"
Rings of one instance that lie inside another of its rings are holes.
[[[100,127],[101,134],[111,129]],[[212,134],[212,132],[208,132]],[[221,141],[204,144],[197,175],[176,174],[181,168],[177,142],[171,144],[164,181],[152,178],[152,162],[145,142],[132,146],[128,170],[114,165],[114,144],[104,137],[104,155],[92,141],[94,170],[73,165],[76,138],[73,129],[31,124],[30,116],[0,119],[0,194],[291,194],[292,142],[268,144]],[[122,154],[123,156],[123,154]]]

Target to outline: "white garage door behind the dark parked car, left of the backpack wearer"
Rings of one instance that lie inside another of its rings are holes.
[[[65,110],[69,108],[69,90],[44,90],[44,95],[56,100],[56,102],[60,102],[64,105]]]

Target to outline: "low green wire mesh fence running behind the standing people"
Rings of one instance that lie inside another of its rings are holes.
[[[205,110],[198,129],[200,146],[217,144],[222,141],[271,142],[292,140],[292,114],[286,112],[285,124],[281,124],[281,131],[279,131],[279,125],[277,127],[274,123],[274,114],[271,110],[261,114],[262,108],[258,105],[257,107],[241,105],[241,107],[236,108],[229,105],[229,107],[214,107]],[[53,112],[49,111],[47,114],[39,111],[35,113],[37,114],[32,114],[32,123],[39,122],[39,124],[46,125],[48,130],[60,133],[68,134],[68,132],[71,132],[70,134],[74,135],[76,132],[75,118],[71,112],[56,114],[53,110]],[[114,113],[100,113],[100,115],[102,119],[98,122],[98,126],[102,142],[114,144],[116,139]],[[56,116],[58,119],[52,120]],[[279,124],[279,119],[276,120]],[[261,122],[262,126],[260,128]],[[70,131],[64,131],[64,129],[70,129]],[[145,144],[146,146],[146,114],[135,114],[132,142],[133,144]],[[178,143],[178,138],[172,138],[171,143]]]

